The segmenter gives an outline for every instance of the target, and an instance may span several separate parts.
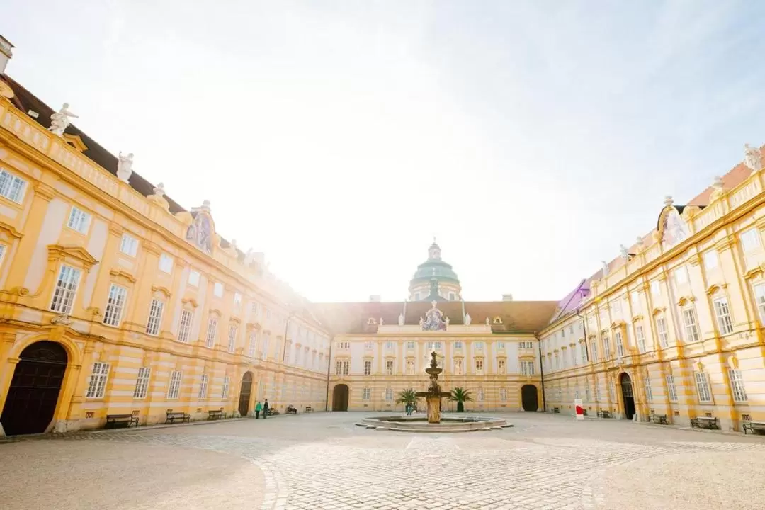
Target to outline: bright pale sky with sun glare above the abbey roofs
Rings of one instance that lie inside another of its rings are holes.
[[[314,301],[559,300],[765,144],[765,2],[5,0],[6,73]]]

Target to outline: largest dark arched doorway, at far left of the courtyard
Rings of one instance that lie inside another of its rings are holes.
[[[56,411],[69,356],[60,343],[33,343],[21,351],[0,416],[5,434],[42,434]]]

